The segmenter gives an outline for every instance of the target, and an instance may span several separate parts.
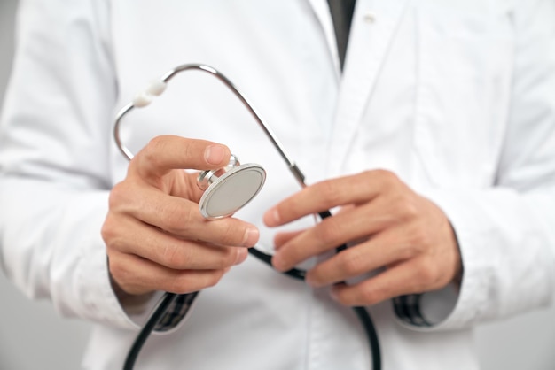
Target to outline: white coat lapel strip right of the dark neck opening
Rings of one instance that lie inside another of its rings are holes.
[[[341,173],[408,0],[358,0],[332,129],[328,175]]]

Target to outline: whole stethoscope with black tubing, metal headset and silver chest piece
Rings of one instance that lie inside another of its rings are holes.
[[[231,81],[220,73],[215,68],[211,66],[201,65],[201,64],[186,64],[182,66],[177,66],[176,68],[168,71],[164,74],[160,81],[152,82],[145,90],[141,91],[133,99],[133,101],[126,106],[124,106],[120,112],[118,112],[115,124],[113,128],[113,135],[118,148],[121,153],[131,160],[133,158],[133,153],[129,150],[124,143],[121,141],[120,136],[120,126],[121,119],[125,117],[126,114],[131,112],[135,108],[145,107],[146,105],[152,103],[152,100],[156,96],[160,96],[166,89],[167,83],[178,73],[184,71],[203,71],[210,73],[215,76],[219,81],[238,97],[238,99],[243,103],[262,128],[262,131],[266,134],[270,142],[279,152],[281,158],[284,159],[286,166],[289,171],[293,173],[293,176],[297,182],[301,185],[301,188],[306,187],[304,182],[304,175],[301,173],[299,167],[293,162],[291,158],[286,154],[283,145],[279,143],[276,135],[272,133],[270,127],[268,127],[261,119],[260,115],[254,110],[252,104],[248,102],[246,96],[244,96]],[[203,217],[207,219],[220,219],[223,217],[230,216],[231,214],[237,212],[240,208],[248,204],[262,189],[264,181],[266,180],[266,172],[257,164],[240,164],[238,158],[235,155],[231,155],[230,161],[227,166],[220,168],[218,170],[211,171],[201,171],[197,178],[199,188],[204,190],[203,196],[199,201],[199,212]],[[318,215],[321,219],[332,216],[330,211],[319,212]],[[346,248],[346,245],[341,245],[336,248],[336,252],[340,252]],[[271,266],[271,255],[258,251],[255,248],[249,248],[249,253],[254,255],[254,257],[259,258],[267,265]],[[300,269],[293,268],[285,272],[295,279],[304,281],[306,272]],[[194,300],[199,292],[194,292],[188,294],[188,296]],[[129,349],[128,356],[125,360],[124,370],[132,369],[137,360],[137,356],[146,342],[148,336],[152,333],[153,328],[155,328],[158,321],[167,312],[168,307],[176,300],[178,297],[174,293],[165,293],[162,297],[160,304],[158,304],[156,310],[152,312],[149,319],[146,321],[145,326],[141,329],[137,338],[131,348]],[[381,369],[381,354],[379,351],[379,340],[374,328],[373,322],[371,320],[368,311],[360,306],[353,307],[356,312],[356,316],[361,321],[363,325],[364,332],[368,339],[368,343],[371,350],[371,361],[372,369]]]

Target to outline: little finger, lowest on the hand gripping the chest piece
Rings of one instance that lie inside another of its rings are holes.
[[[154,290],[185,294],[214,286],[229,269],[179,270],[158,265],[135,255],[114,252],[110,273],[128,294],[142,295]]]

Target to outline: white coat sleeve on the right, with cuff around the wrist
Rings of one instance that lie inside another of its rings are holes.
[[[434,318],[427,320],[432,330],[507,318],[553,299],[555,3],[522,1],[512,16],[512,100],[496,185],[426,192],[449,217],[464,265],[459,291],[449,287],[417,299],[416,311]]]

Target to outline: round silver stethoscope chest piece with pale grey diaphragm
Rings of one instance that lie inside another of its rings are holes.
[[[228,166],[199,173],[199,188],[204,190],[199,211],[210,220],[231,216],[258,194],[264,181],[266,171],[262,166],[241,165],[237,157],[231,155]]]

